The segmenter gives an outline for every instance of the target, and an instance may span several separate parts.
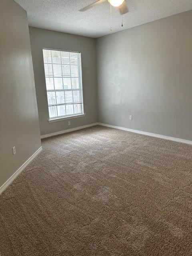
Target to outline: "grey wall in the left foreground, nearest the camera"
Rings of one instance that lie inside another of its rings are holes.
[[[13,0],[1,0],[0,186],[40,146],[27,14]]]

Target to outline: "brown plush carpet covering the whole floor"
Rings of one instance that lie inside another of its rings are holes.
[[[48,138],[0,196],[1,256],[191,256],[192,147],[96,126]]]

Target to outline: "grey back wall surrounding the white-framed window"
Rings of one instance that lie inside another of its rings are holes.
[[[96,40],[30,27],[35,86],[41,135],[97,122]],[[82,54],[83,98],[86,115],[49,123],[42,49],[78,51]],[[71,125],[68,126],[68,121]]]

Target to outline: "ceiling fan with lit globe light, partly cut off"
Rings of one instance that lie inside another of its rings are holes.
[[[97,6],[98,4],[106,2],[106,1],[108,1],[112,6],[118,7],[120,14],[125,14],[129,11],[126,0],[98,0],[92,4],[89,4],[88,6],[85,6],[84,8],[80,9],[79,11],[84,12],[84,11],[86,11],[94,6]]]

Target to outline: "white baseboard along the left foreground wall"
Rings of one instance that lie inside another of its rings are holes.
[[[0,194],[14,181],[14,179],[24,170],[24,168],[41,152],[42,147],[40,147],[16,172],[0,187]]]

